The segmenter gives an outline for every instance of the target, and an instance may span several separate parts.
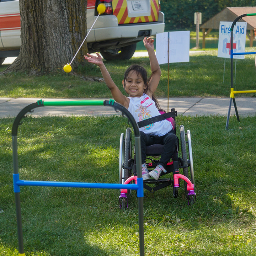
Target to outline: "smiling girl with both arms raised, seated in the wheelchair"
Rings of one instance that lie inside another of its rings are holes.
[[[136,122],[158,116],[159,104],[153,93],[158,87],[161,70],[154,51],[154,39],[151,37],[143,39],[144,46],[148,51],[151,76],[148,79],[146,70],[139,65],[131,65],[124,73],[122,81],[124,90],[129,94],[126,97],[114,84],[106,66],[104,65],[100,54],[97,57],[87,53],[85,59],[100,67],[102,76],[106,82],[108,89],[116,102],[126,107],[133,115]],[[176,151],[178,142],[171,122],[163,120],[140,128],[141,154],[142,154],[142,177],[148,180],[153,177],[158,180],[162,171],[166,172],[166,164],[170,160],[172,154]],[[153,144],[163,144],[164,151],[161,155],[159,164],[153,171],[148,171],[146,167],[146,146]]]

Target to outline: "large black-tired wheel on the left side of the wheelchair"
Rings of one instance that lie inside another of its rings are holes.
[[[128,127],[126,129],[126,137],[124,142],[124,181],[126,181],[130,176],[132,176],[132,169],[127,169],[125,167],[131,168],[130,159],[132,158],[132,134],[131,129]],[[131,191],[128,190],[127,198],[130,199]]]

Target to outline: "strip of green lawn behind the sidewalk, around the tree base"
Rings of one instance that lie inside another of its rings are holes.
[[[247,52],[255,48],[246,48]],[[124,71],[131,64],[138,63],[150,71],[149,59],[132,58],[127,61],[105,62],[114,82],[124,92],[122,80]],[[234,61],[235,66],[235,61]],[[7,65],[0,66],[0,72]],[[190,62],[170,64],[170,97],[229,97],[230,61],[226,60],[225,82],[223,83],[224,58],[217,57],[217,50],[193,53]],[[168,65],[161,65],[162,76],[156,91],[157,97],[167,97]],[[0,76],[0,97],[35,98],[111,98],[104,82],[86,81],[86,76],[102,77],[100,69],[92,64],[81,66],[76,75],[66,74],[60,67],[59,73],[46,76],[7,74]],[[237,60],[235,90],[255,90],[255,56],[246,55]],[[256,94],[238,94],[236,97],[250,97]]]

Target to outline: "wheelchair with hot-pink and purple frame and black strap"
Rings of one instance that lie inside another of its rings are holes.
[[[159,122],[163,119],[167,119],[172,122],[176,133],[176,123],[175,117],[177,116],[177,111],[174,108],[171,109],[169,113],[163,113],[161,111],[159,116],[145,119],[138,122],[138,127],[144,127],[148,124]],[[187,141],[186,141],[187,139]],[[171,156],[170,161],[167,163],[166,172],[162,172],[158,180],[149,179],[143,181],[143,186],[146,190],[154,193],[157,190],[165,188],[172,185],[172,191],[174,198],[178,196],[178,188],[180,188],[180,180],[184,180],[184,190],[185,197],[188,200],[188,205],[194,204],[196,201],[196,193],[194,188],[194,170],[193,170],[193,156],[191,147],[191,135],[190,130],[185,133],[185,128],[183,125],[180,126],[180,146],[177,144],[176,152]],[[186,145],[187,144],[187,145]],[[146,166],[148,170],[153,170],[157,165],[157,158],[162,154],[164,145],[154,144],[146,146]],[[181,148],[181,157],[178,157],[178,151]],[[187,154],[188,148],[188,154]],[[175,155],[176,154],[176,155]],[[188,156],[188,158],[187,158]],[[154,159],[153,159],[154,158]],[[120,136],[120,146],[119,146],[119,183],[129,184],[137,183],[136,174],[136,161],[135,161],[135,150],[133,156],[133,146],[132,146],[132,134],[131,129],[128,127],[126,129],[126,134],[123,133]],[[190,174],[189,170],[190,169]],[[180,174],[182,170],[183,174]],[[128,202],[131,196],[131,191],[127,189],[121,189],[119,196],[119,207],[122,209],[128,208]]]

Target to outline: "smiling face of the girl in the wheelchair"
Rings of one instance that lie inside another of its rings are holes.
[[[127,76],[126,81],[123,80],[124,90],[130,97],[141,97],[146,89],[146,85],[142,76],[137,74],[135,70],[131,70]]]

